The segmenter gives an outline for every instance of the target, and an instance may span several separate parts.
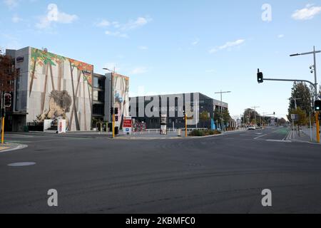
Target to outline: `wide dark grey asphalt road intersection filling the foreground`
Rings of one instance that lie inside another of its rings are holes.
[[[10,135],[0,213],[320,213],[321,146],[267,128],[213,138]],[[15,162],[35,162],[25,167]],[[58,191],[58,207],[47,192]],[[272,191],[263,207],[262,190]]]

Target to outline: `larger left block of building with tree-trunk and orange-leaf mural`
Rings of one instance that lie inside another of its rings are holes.
[[[66,120],[67,130],[91,130],[93,65],[31,47],[6,54],[19,70],[9,117],[12,131],[57,118]]]

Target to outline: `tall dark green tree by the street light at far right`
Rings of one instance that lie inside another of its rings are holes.
[[[292,93],[290,98],[289,113],[295,110],[295,99],[297,108],[300,108],[308,116],[312,112],[312,91],[305,83],[294,83],[292,87]]]

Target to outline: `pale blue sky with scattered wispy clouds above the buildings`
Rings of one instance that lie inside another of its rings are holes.
[[[266,78],[314,81],[312,56],[289,55],[321,49],[321,0],[0,0],[0,14],[1,48],[48,48],[96,73],[116,68],[131,78],[131,96],[220,100],[215,92],[228,90],[232,116],[258,106],[285,117],[292,83],[258,84],[258,68]]]

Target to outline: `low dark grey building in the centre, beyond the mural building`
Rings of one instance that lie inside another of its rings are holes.
[[[168,128],[185,128],[183,110],[189,117],[188,128],[215,128],[215,110],[228,110],[228,103],[221,103],[202,93],[133,97],[130,103],[133,119],[146,123],[148,129],[160,128],[161,114],[168,116]],[[208,120],[200,120],[203,112],[208,113]]]

